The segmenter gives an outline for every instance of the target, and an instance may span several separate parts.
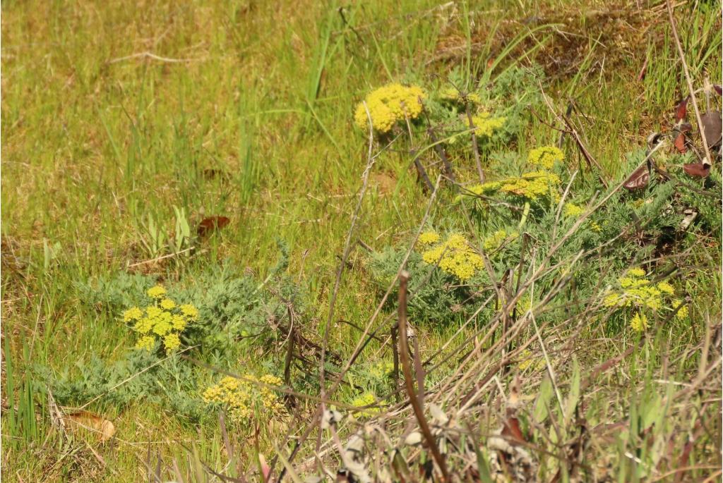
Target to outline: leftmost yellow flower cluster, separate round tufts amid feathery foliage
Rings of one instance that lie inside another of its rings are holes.
[[[132,307],[123,313],[123,321],[132,323],[133,331],[138,334],[135,347],[150,351],[158,340],[166,353],[174,352],[181,347],[181,333],[197,320],[198,309],[190,304],[179,307],[166,297],[166,289],[161,285],[148,289],[147,295],[153,300],[152,305],[145,309]]]

